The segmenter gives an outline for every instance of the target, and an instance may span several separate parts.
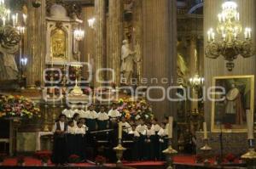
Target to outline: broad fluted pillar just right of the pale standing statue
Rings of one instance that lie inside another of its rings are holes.
[[[177,84],[177,6],[175,0],[143,0],[143,76],[142,85],[151,87],[154,115],[177,115],[176,102],[169,101],[176,91],[166,88]],[[157,80],[157,81],[156,81]],[[147,81],[147,82],[146,82]],[[162,87],[156,89],[152,87]]]

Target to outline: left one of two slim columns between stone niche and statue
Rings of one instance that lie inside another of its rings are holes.
[[[106,1],[95,0],[95,70],[106,68]],[[106,79],[106,71],[100,71],[94,79],[94,86],[100,87],[102,84],[99,81]]]

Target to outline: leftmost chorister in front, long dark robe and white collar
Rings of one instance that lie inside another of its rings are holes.
[[[58,121],[55,122],[52,132],[54,132],[54,144],[52,153],[52,162],[56,165],[64,165],[67,162],[67,142],[66,132],[67,124],[66,115],[60,115]]]

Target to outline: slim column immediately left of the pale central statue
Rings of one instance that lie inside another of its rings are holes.
[[[108,1],[108,68],[114,70],[114,77],[108,73],[108,80],[114,78],[114,83],[120,85],[120,62],[121,62],[121,47],[122,47],[122,12],[123,1],[109,0]]]

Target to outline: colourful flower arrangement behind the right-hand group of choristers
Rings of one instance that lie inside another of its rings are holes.
[[[151,120],[154,118],[151,105],[145,99],[134,101],[133,99],[119,99],[119,112],[127,120],[140,118]]]

